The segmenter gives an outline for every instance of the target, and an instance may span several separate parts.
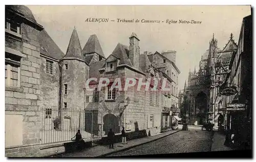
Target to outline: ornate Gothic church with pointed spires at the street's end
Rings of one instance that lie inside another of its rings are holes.
[[[186,105],[187,122],[190,124],[201,125],[205,122],[215,123],[218,128],[218,110],[216,106],[219,88],[224,82],[228,71],[233,51],[236,51],[237,44],[234,42],[232,34],[223,50],[218,48],[218,41],[214,37],[209,42],[209,49],[202,55],[199,62],[199,70],[188,74],[187,87],[183,91]],[[185,100],[186,98],[186,100]],[[221,121],[220,119],[219,121]],[[222,120],[223,121],[223,120]],[[222,122],[223,123],[223,122]],[[222,125],[219,122],[219,125]]]

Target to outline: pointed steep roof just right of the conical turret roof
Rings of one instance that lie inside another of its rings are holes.
[[[82,54],[97,53],[101,57],[105,58],[104,53],[101,49],[97,35],[91,35],[82,49]]]

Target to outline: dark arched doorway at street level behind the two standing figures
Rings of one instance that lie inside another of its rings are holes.
[[[119,119],[114,114],[108,113],[104,115],[103,122],[103,131],[105,132],[105,134],[108,134],[110,128],[112,128],[114,133],[120,133]]]

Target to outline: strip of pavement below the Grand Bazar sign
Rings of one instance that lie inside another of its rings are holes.
[[[214,137],[212,138],[211,151],[230,151],[233,150],[230,147],[224,146],[225,135],[214,131]]]

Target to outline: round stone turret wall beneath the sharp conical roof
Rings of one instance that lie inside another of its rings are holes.
[[[63,60],[61,66],[64,64],[68,64],[68,70],[63,70],[63,86],[67,84],[67,94],[65,94],[65,89],[62,91],[62,110],[63,116],[70,117],[70,128],[65,126],[65,129],[77,129],[79,124],[79,113],[77,111],[79,109],[83,110],[84,108],[84,85],[86,83],[86,79],[88,78],[88,68],[85,62],[79,60]],[[64,66],[63,66],[64,67]],[[65,104],[67,103],[67,108],[65,108]],[[65,111],[67,110],[67,111]],[[83,122],[82,122],[83,123]]]

